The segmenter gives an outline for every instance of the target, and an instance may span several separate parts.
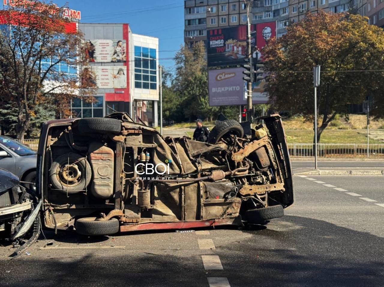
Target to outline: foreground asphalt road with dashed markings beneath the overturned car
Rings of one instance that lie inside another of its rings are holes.
[[[295,176],[295,205],[266,227],[102,238],[46,232],[52,246],[40,240],[14,261],[0,247],[0,285],[382,286],[383,182]]]

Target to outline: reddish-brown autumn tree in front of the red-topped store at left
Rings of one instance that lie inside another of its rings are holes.
[[[80,96],[92,94],[88,87],[94,84],[59,69],[59,64],[86,65],[81,56],[83,36],[66,29],[70,20],[62,17],[65,7],[44,0],[19,4],[2,11],[8,25],[0,31],[0,99],[12,105],[16,137],[22,140],[47,98],[68,104],[76,91]]]

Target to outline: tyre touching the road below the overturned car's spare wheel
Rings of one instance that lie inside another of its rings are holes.
[[[79,218],[75,228],[82,235],[111,235],[119,232],[119,221],[111,218],[108,221],[96,221],[94,217]]]

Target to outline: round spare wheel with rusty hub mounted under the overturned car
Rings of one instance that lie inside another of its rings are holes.
[[[70,168],[66,172],[68,157]],[[68,190],[68,194],[85,190],[91,182],[91,177],[91,165],[82,155],[77,153],[60,155],[60,157],[55,158],[50,169],[50,180],[53,187],[63,193],[67,193]]]

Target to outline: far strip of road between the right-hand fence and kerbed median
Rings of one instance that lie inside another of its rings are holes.
[[[292,160],[292,168],[293,170],[297,170],[300,168],[314,168],[314,160]],[[381,161],[340,161],[340,160],[329,160],[329,161],[318,161],[318,168],[326,170],[328,169],[345,169],[345,168],[353,168],[353,169],[382,169],[384,168],[384,159]]]

